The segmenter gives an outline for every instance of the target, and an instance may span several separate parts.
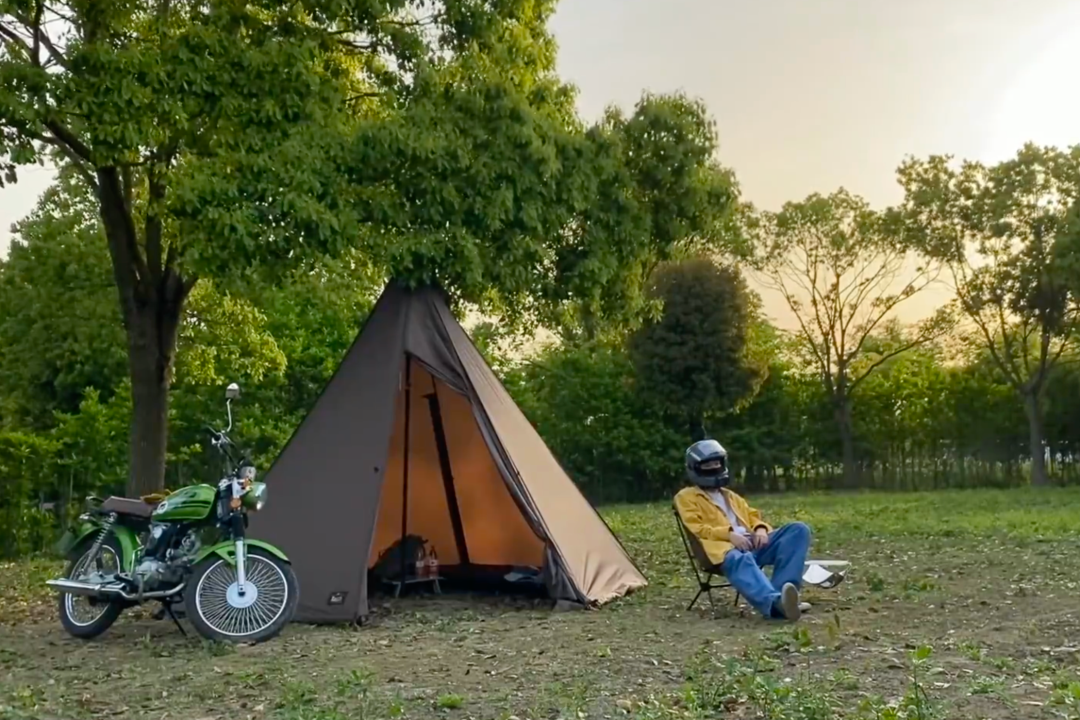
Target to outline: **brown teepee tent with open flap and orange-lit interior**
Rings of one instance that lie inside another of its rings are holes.
[[[251,533],[289,555],[302,622],[365,615],[406,533],[443,568],[540,569],[556,600],[646,584],[432,288],[388,285],[267,484]]]

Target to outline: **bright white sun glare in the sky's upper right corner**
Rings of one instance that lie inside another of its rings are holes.
[[[1015,67],[990,114],[983,160],[1011,158],[1027,141],[1080,144],[1080,8],[1045,23]]]

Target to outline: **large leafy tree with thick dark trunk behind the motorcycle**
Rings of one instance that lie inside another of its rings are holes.
[[[177,336],[199,277],[387,245],[381,232],[359,233],[357,220],[395,220],[391,244],[420,225],[428,240],[441,228],[448,244],[428,256],[455,246],[454,218],[397,202],[401,187],[378,175],[400,154],[393,119],[427,108],[430,127],[446,104],[422,100],[441,93],[482,109],[501,100],[517,113],[513,141],[535,145],[527,111],[558,90],[537,81],[553,65],[552,4],[0,0],[4,178],[46,153],[62,158],[93,189],[108,242],[134,403],[131,492],[162,485]],[[565,117],[567,97],[549,114]],[[353,152],[357,121],[382,130],[359,133]],[[441,127],[428,151],[461,150],[460,125]],[[365,145],[379,137],[394,141]],[[341,166],[363,167],[366,151],[378,155],[375,176],[349,184]],[[468,164],[484,165],[477,158]],[[521,165],[521,153],[513,160]]]

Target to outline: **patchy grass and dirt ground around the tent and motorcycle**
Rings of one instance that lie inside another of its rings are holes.
[[[666,505],[604,514],[650,587],[596,612],[404,599],[361,629],[257,647],[123,616],[68,639],[41,582],[0,567],[0,718],[1071,718],[1080,720],[1080,491],[761,499],[851,560],[798,625],[696,589]],[[720,607],[723,606],[723,607]]]

